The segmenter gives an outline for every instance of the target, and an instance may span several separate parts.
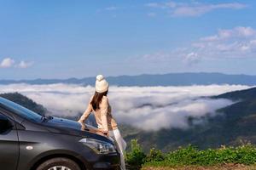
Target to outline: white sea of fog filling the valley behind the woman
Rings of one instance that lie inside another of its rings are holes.
[[[115,87],[109,88],[113,116],[144,130],[187,128],[188,118],[197,123],[202,117],[215,116],[216,110],[233,104],[228,99],[210,99],[212,95],[251,88],[242,85],[207,85],[183,87]],[[78,116],[87,107],[94,87],[74,84],[0,85],[0,93],[19,92],[44,105],[54,116]]]

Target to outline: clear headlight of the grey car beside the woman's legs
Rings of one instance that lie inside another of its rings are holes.
[[[92,150],[95,150],[98,154],[108,154],[116,152],[113,144],[101,140],[84,138],[80,139],[79,142],[87,145]]]

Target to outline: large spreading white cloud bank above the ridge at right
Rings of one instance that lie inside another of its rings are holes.
[[[191,66],[201,60],[245,59],[256,56],[256,29],[250,26],[236,26],[232,29],[219,29],[216,34],[201,37],[189,46],[176,48],[170,52],[144,54],[143,62],[168,62],[183,60]]]

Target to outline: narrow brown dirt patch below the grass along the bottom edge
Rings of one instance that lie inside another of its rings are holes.
[[[256,170],[256,165],[226,164],[212,167],[143,167],[142,170]]]

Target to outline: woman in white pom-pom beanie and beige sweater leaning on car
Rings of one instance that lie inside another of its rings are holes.
[[[79,122],[83,124],[88,116],[90,116],[90,113],[94,113],[99,130],[103,134],[114,139],[121,157],[121,169],[125,170],[124,151],[126,143],[122,138],[118,125],[111,114],[111,106],[108,103],[107,94],[108,82],[102,75],[98,75],[96,77],[96,92],[94,96],[90,98],[87,109],[84,111],[83,116],[80,117]]]

